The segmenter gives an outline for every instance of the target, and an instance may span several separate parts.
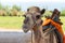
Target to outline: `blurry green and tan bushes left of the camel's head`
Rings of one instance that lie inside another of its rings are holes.
[[[21,16],[21,14],[23,14],[21,6],[13,5],[11,8],[9,5],[3,6],[0,4],[0,16]]]

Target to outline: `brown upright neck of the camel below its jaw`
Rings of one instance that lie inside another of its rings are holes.
[[[41,33],[42,33],[41,29],[42,29],[41,26],[35,26],[32,28],[36,43],[39,43],[39,41],[41,39]]]

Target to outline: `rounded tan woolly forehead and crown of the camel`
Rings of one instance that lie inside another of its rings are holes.
[[[25,13],[25,15],[40,15],[40,9],[38,6],[30,6],[28,8],[28,11]]]

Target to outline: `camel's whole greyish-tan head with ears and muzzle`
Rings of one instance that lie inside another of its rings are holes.
[[[27,9],[27,12],[24,14],[24,25],[23,30],[24,32],[29,31],[34,28],[34,26],[37,24],[39,25],[41,23],[41,15],[46,12],[46,10],[40,10],[38,6],[31,6]]]

